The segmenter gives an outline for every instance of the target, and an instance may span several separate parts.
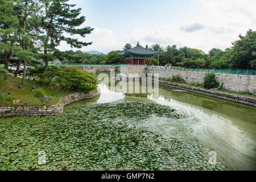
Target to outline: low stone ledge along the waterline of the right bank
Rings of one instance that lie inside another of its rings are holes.
[[[189,92],[204,94],[205,96],[221,98],[221,99],[224,99],[224,100],[233,101],[233,102],[237,102],[237,103],[240,103],[240,104],[246,104],[246,105],[256,107],[256,98],[253,98],[253,97],[240,96],[240,95],[232,94],[232,93],[218,92],[218,91],[215,91],[215,90],[195,88],[195,87],[192,87],[192,86],[187,86],[187,85],[183,85],[183,84],[176,84],[176,83],[171,83],[171,82],[167,82],[167,81],[159,81],[159,85],[170,86],[172,88],[187,90]]]

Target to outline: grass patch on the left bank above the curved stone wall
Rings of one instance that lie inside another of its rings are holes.
[[[46,86],[43,86],[38,81],[26,80],[25,85],[22,89],[18,89],[18,85],[21,85],[22,78],[8,77],[6,81],[0,86],[2,91],[2,97],[8,98],[0,100],[0,105],[13,105],[14,100],[20,100],[19,104],[16,105],[53,105],[59,102],[61,97],[67,96],[74,92],[53,90]],[[35,97],[35,91],[32,91],[32,87],[42,88],[46,93],[46,96],[51,97],[51,101],[42,102],[39,97]],[[7,93],[11,92],[10,96]],[[6,97],[7,96],[7,97]]]

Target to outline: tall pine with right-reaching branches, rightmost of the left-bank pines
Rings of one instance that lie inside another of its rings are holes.
[[[75,28],[85,22],[85,16],[78,17],[81,13],[81,8],[72,9],[75,5],[69,5],[68,0],[40,0],[40,2],[45,8],[42,18],[44,35],[41,36],[44,47],[44,60],[46,62],[42,74],[43,78],[48,70],[48,63],[52,57],[52,52],[56,50],[56,47],[59,46],[61,41],[76,48],[92,44],[92,42],[86,43],[75,38],[66,37],[64,33],[80,35],[84,38],[86,34],[92,32],[93,28]]]

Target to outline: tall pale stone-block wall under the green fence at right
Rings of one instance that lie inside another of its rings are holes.
[[[203,84],[205,72],[192,72],[192,71],[166,71],[147,69],[146,73],[159,73],[160,78],[172,78],[172,76],[180,76],[186,82],[195,84],[199,82]],[[224,89],[232,90],[235,92],[251,92],[256,93],[256,76],[253,75],[233,75],[215,73],[216,80],[223,82]]]

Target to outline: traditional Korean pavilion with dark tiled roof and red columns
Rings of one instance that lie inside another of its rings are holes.
[[[126,64],[129,65],[151,65],[151,57],[159,53],[139,46],[138,42],[136,47],[117,54],[126,57]]]

